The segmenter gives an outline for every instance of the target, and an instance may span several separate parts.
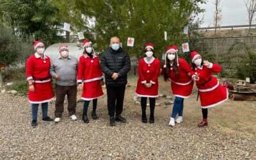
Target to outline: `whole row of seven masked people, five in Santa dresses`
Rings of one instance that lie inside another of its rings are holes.
[[[45,46],[42,42],[34,44],[35,54],[30,56],[26,64],[26,77],[29,85],[29,102],[31,103],[31,126],[37,125],[38,106],[42,106],[42,120],[47,122],[60,122],[64,110],[64,99],[67,95],[68,115],[72,120],[77,120],[76,102],[77,88],[83,89],[81,99],[83,104],[83,122],[89,123],[88,106],[92,100],[92,118],[96,120],[97,99],[102,97],[102,85],[106,83],[108,95],[109,125],[115,122],[127,122],[121,116],[124,105],[125,86],[127,74],[131,69],[129,54],[120,47],[120,39],[116,36],[110,39],[109,48],[102,54],[99,60],[95,54],[92,42],[83,42],[83,56],[79,61],[68,54],[68,46],[59,48],[60,56],[56,60],[50,60],[44,55]],[[184,99],[191,95],[193,84],[198,87],[203,120],[198,127],[207,125],[208,108],[221,104],[228,99],[227,88],[221,86],[212,73],[221,71],[220,65],[202,61],[198,52],[191,52],[191,65],[183,58],[179,58],[175,45],[167,47],[163,68],[160,61],[154,56],[154,45],[145,45],[145,57],[138,63],[138,83],[136,95],[141,97],[141,121],[147,123],[147,98],[149,99],[150,117],[149,123],[154,123],[154,109],[156,97],[158,97],[158,77],[163,74],[164,81],[170,81],[172,93],[175,96],[170,126],[175,122],[182,122]],[[161,72],[162,70],[162,72]],[[55,93],[55,118],[47,115],[48,102],[54,99],[51,79],[56,79]],[[197,98],[198,98],[197,97]],[[177,117],[177,118],[176,118]]]

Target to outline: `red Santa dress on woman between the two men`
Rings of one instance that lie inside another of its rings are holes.
[[[100,80],[102,79],[102,70],[100,68],[99,57],[93,54],[91,59],[87,54],[79,58],[77,82],[83,82],[83,94],[81,99],[92,100],[102,97]]]

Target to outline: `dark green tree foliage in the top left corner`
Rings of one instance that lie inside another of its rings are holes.
[[[54,44],[62,38],[57,36],[61,23],[55,16],[58,9],[51,0],[0,1],[2,18],[11,22],[13,30],[19,36],[33,35],[46,45]]]

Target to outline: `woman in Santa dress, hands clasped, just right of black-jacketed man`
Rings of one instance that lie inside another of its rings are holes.
[[[160,74],[161,63],[154,56],[154,45],[148,43],[145,45],[145,58],[141,58],[138,65],[139,79],[136,88],[136,95],[141,97],[141,120],[147,123],[147,97],[150,106],[149,122],[154,123],[154,109],[156,106],[156,97],[158,97],[158,77]]]

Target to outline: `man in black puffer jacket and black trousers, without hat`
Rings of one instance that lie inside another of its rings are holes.
[[[126,120],[121,116],[121,113],[123,111],[127,73],[131,69],[131,61],[127,52],[120,47],[118,37],[114,36],[110,39],[109,49],[102,55],[100,66],[105,74],[109,123],[111,126],[115,125],[115,120],[125,123]]]

